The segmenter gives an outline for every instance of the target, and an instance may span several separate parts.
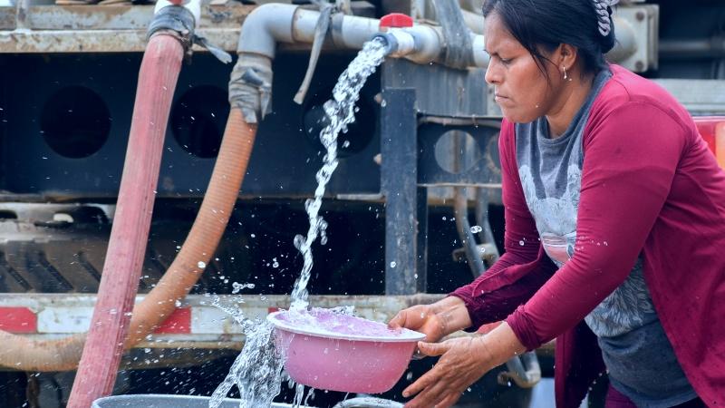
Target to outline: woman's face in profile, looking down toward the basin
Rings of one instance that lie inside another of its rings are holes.
[[[527,123],[544,116],[556,96],[552,89],[556,89],[560,74],[554,64],[545,63],[549,84],[533,55],[508,32],[497,13],[486,17],[484,33],[486,51],[491,56],[486,82],[493,85],[496,102],[506,119]]]

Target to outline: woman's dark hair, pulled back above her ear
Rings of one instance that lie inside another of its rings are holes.
[[[614,48],[612,9],[607,7],[611,30],[600,33],[594,2],[603,0],[486,0],[483,15],[496,13],[508,31],[536,59],[542,72],[546,57],[541,49],[551,52],[559,44],[578,49],[585,73],[598,73],[607,67],[604,53]]]

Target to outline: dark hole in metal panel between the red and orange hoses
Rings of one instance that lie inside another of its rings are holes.
[[[189,89],[171,111],[171,131],[185,151],[200,158],[217,157],[229,115],[227,92],[211,85]]]

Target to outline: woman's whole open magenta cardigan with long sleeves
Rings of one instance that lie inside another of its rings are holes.
[[[708,406],[725,405],[725,172],[688,112],[659,85],[611,66],[591,108],[575,254],[548,259],[518,178],[514,126],[499,149],[506,253],[452,296],[473,329],[505,319],[527,349],[556,337],[556,406],[578,407],[604,372],[584,317],[638,256],[675,355]]]

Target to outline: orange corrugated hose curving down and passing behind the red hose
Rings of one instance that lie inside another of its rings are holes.
[[[241,110],[233,108],[198,217],[169,270],[133,309],[126,349],[160,325],[174,311],[177,300],[187,296],[197,283],[203,272],[198,262],[208,264],[227,227],[255,137],[256,125],[247,124]],[[85,338],[86,335],[72,335],[57,340],[33,340],[0,331],[0,365],[20,371],[73,370],[81,359]]]

